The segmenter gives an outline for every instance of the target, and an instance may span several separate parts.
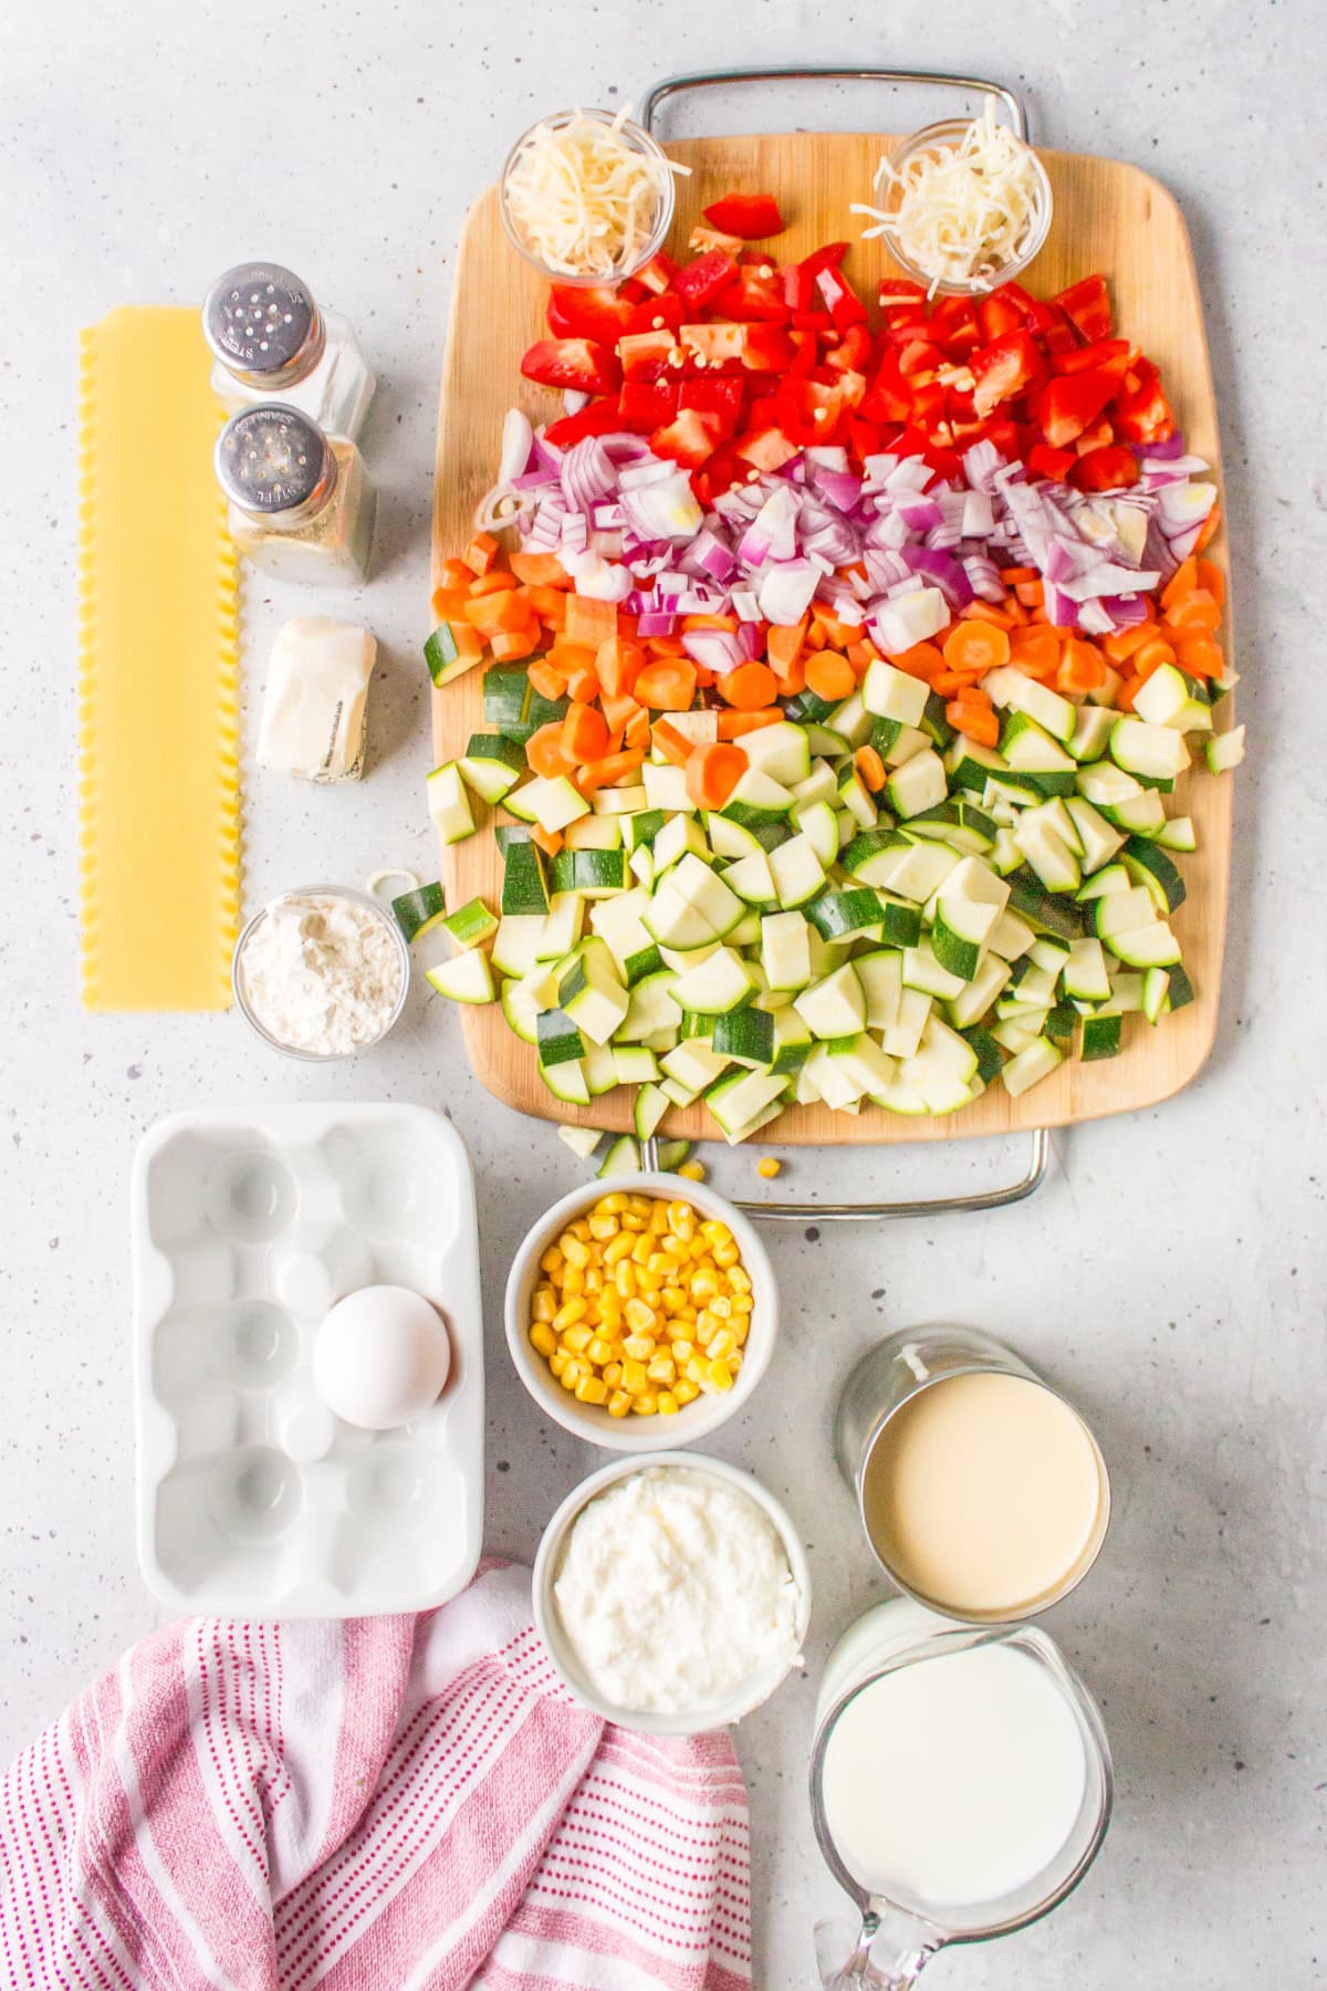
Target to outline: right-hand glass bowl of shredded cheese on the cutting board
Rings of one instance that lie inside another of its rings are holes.
[[[925,125],[879,161],[879,207],[853,203],[889,255],[931,295],[977,297],[1009,283],[1050,229],[1046,169],[1009,125],[949,117]]]

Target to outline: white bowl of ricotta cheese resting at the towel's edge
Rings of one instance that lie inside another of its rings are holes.
[[[563,1686],[643,1734],[724,1728],[798,1664],[802,1539],[758,1479],[694,1451],[617,1459],[543,1531],[535,1625]]]

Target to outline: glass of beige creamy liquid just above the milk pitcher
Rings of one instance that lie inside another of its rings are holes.
[[[1106,1539],[1096,1439],[975,1328],[911,1328],[873,1348],[844,1388],[836,1453],[885,1573],[963,1623],[1044,1611]]]

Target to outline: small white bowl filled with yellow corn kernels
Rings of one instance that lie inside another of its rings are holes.
[[[774,1270],[754,1226],[676,1175],[575,1189],[507,1276],[521,1382],[555,1424],[607,1451],[708,1438],[750,1398],[776,1334]]]

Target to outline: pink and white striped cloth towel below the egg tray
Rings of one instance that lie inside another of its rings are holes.
[[[529,1571],[422,1617],[155,1633],[6,1772],[0,1969],[60,1991],[744,1991],[726,1734],[557,1684]]]

